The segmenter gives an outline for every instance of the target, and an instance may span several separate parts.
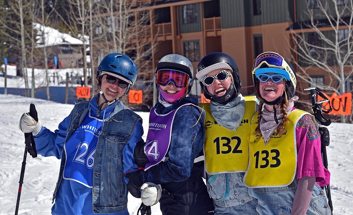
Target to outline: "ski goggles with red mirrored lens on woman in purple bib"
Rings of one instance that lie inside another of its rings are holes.
[[[189,85],[189,75],[178,70],[158,70],[156,83],[162,86],[173,83],[176,88],[186,88]]]

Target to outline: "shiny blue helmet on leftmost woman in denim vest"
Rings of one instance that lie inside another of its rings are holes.
[[[96,77],[110,74],[133,85],[137,78],[137,66],[128,56],[120,53],[107,54],[98,66]]]

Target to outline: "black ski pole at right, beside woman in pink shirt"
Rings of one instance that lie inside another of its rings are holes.
[[[312,105],[311,110],[313,111],[313,114],[315,116],[315,120],[319,124],[318,130],[321,135],[322,162],[323,162],[324,168],[328,169],[326,147],[330,144],[330,135],[329,135],[329,131],[328,131],[327,127],[325,127],[325,126],[329,126],[331,124],[331,120],[326,119],[322,113],[323,112],[330,113],[332,111],[332,107],[331,107],[330,101],[327,99],[327,97],[322,92],[316,90],[315,87],[306,88],[304,90],[309,90],[309,92],[310,92],[311,105]],[[317,94],[319,94],[319,96],[323,97],[324,100],[317,101]],[[329,102],[330,109],[328,111],[324,111],[322,109],[322,104],[324,102]],[[328,204],[330,206],[331,215],[332,215],[333,214],[333,205],[332,205],[332,199],[331,199],[330,185],[328,184],[324,187],[325,187],[325,191],[327,193],[327,200],[328,200]]]

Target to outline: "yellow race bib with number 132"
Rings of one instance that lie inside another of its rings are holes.
[[[237,131],[220,126],[211,115],[209,103],[203,104],[205,119],[205,166],[209,174],[245,172],[249,163],[251,118],[255,97],[245,96],[245,113]]]

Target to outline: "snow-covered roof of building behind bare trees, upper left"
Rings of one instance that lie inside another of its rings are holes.
[[[33,27],[38,30],[38,33],[41,34],[42,31],[44,30],[45,34],[45,41],[44,44],[45,46],[56,46],[56,45],[61,45],[61,44],[71,44],[71,45],[82,45],[83,42],[82,40],[79,40],[78,38],[75,38],[71,36],[70,34],[67,33],[62,33],[54,28],[48,27],[41,25],[39,23],[33,23]],[[84,36],[86,40],[86,44],[89,44],[89,36]],[[37,37],[38,39],[38,46],[37,47],[43,47],[43,40],[41,36]]]

